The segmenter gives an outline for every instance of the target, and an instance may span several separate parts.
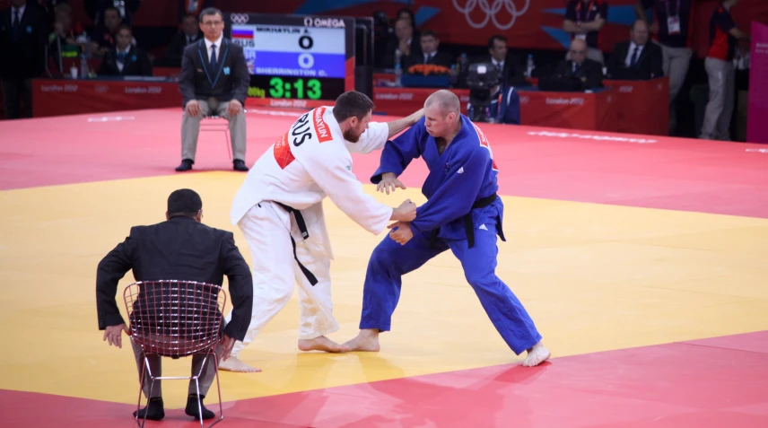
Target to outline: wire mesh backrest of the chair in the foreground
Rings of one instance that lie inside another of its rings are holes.
[[[123,297],[131,338],[144,354],[179,358],[219,343],[227,294],[218,285],[143,281],[128,285]]]

